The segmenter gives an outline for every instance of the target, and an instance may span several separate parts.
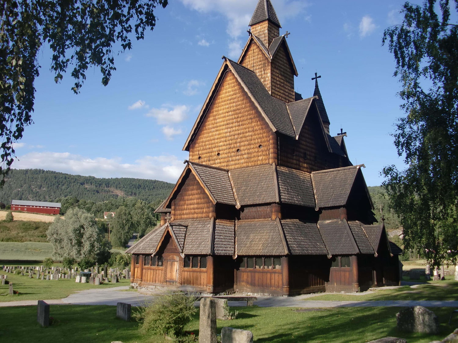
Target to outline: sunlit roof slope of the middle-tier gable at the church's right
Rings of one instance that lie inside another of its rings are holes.
[[[311,179],[316,207],[345,205],[361,166],[364,165],[313,171]]]

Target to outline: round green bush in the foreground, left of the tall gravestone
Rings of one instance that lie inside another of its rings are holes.
[[[183,328],[197,311],[194,301],[194,297],[181,292],[157,296],[151,305],[136,315],[137,319],[143,321],[140,332],[144,335],[181,336]]]

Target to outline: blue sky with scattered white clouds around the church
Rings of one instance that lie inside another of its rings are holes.
[[[114,56],[108,86],[87,71],[81,93],[70,73],[56,84],[49,49],[40,52],[34,123],[14,148],[16,169],[40,168],[95,177],[176,182],[189,132],[223,63],[248,40],[257,0],[174,0],[157,8],[156,27]],[[400,24],[403,1],[272,0],[299,76],[295,90],[313,95],[315,72],[332,135],[342,128],[350,161],[365,164],[368,186],[382,168],[403,160],[393,137],[405,115],[383,31]]]

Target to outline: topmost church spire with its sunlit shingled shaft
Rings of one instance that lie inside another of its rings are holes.
[[[251,33],[262,40],[266,47],[280,35],[280,22],[270,0],[259,0],[251,17]]]

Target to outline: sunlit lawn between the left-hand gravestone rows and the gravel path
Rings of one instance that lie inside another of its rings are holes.
[[[0,271],[0,275],[5,272]],[[8,273],[8,281],[13,283],[13,289],[19,291],[19,295],[9,295],[8,284],[0,284],[0,302],[17,301],[17,300],[46,300],[46,299],[62,299],[80,290],[91,288],[106,288],[129,286],[129,279],[121,279],[117,284],[101,284],[100,286],[89,283],[76,283],[75,279],[59,279],[59,280],[41,280],[29,279],[28,275],[20,276],[14,273]],[[3,311],[2,308],[1,311]],[[1,337],[1,336],[0,336]]]

